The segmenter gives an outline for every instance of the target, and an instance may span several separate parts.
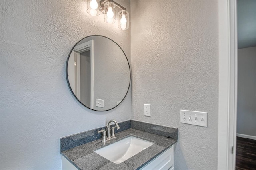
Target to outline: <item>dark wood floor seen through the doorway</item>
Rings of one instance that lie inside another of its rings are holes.
[[[236,138],[236,170],[256,170],[256,140]]]

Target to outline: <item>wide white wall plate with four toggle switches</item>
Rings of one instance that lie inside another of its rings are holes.
[[[180,110],[180,122],[207,127],[207,112]]]

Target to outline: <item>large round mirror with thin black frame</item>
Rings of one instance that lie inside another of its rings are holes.
[[[66,77],[80,103],[107,111],[124,100],[130,87],[130,65],[116,42],[104,36],[88,36],[70,51]]]

